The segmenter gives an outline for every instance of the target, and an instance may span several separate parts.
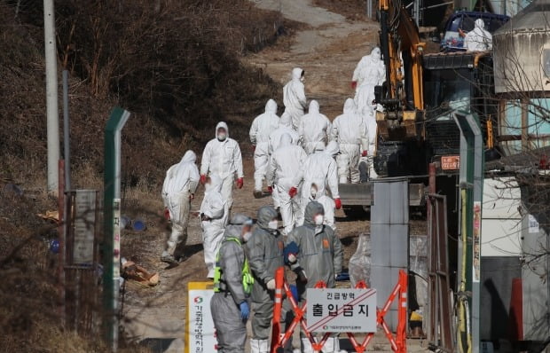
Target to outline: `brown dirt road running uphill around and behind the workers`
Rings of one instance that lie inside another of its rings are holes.
[[[306,72],[306,95],[318,99],[321,112],[331,120],[342,111],[345,98],[353,97],[350,80],[358,60],[370,52],[376,42],[377,26],[372,22],[350,21],[340,14],[314,7],[309,0],[256,0],[258,7],[280,11],[290,20],[300,21],[306,29],[296,33],[291,40],[250,55],[244,60],[262,67],[277,82],[287,82],[293,67],[303,67]],[[280,103],[279,103],[280,104]],[[241,144],[245,163],[245,186],[234,192],[233,212],[255,216],[256,210],[271,204],[271,197],[256,200],[252,196],[254,163],[252,153]],[[193,209],[200,208],[202,188],[193,202]],[[161,201],[158,201],[161,209]],[[368,231],[368,221],[350,221],[342,211],[337,211],[338,235],[346,247],[345,262],[355,251],[358,234]],[[143,288],[133,284],[126,287],[124,315],[125,331],[130,338],[141,341],[155,352],[181,352],[185,332],[186,283],[204,280],[207,275],[203,263],[201,232],[198,219],[189,227],[189,239],[185,263],[166,269],[159,262],[163,231],[154,224],[145,234],[126,234],[124,245],[140,247],[144,254],[138,263],[161,273],[161,284]],[[124,250],[122,250],[124,252]],[[127,254],[131,257],[131,254]],[[376,346],[374,346],[376,347]],[[379,345],[378,350],[387,349]]]

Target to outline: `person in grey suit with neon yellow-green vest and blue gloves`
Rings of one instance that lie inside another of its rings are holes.
[[[237,214],[232,217],[220,247],[217,265],[222,272],[220,292],[210,301],[210,311],[217,334],[217,351],[242,353],[247,341],[247,320],[242,319],[240,305],[247,302],[248,294],[242,286],[242,267],[245,262],[244,248],[229,238],[242,239],[244,224],[251,224],[250,218]]]

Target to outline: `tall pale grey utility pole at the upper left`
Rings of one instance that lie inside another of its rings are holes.
[[[53,0],[43,0],[44,49],[46,59],[46,120],[48,131],[48,193],[58,194],[59,183],[59,107],[58,58],[55,43]]]

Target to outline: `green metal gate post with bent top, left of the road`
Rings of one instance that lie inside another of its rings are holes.
[[[121,261],[121,130],[130,112],[115,107],[105,130],[103,308],[105,340],[112,351],[118,349],[118,297]]]

